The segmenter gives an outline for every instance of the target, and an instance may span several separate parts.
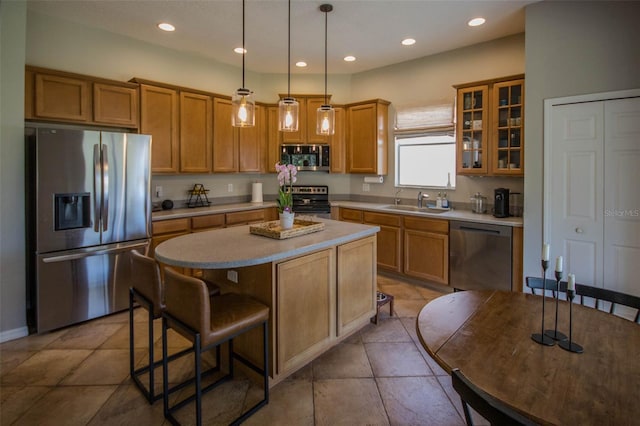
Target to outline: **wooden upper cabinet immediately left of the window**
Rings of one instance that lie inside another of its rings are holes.
[[[389,102],[347,106],[347,173],[387,174]]]

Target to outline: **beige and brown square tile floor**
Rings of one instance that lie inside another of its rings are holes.
[[[394,295],[395,315],[390,317],[389,305],[383,306],[378,325],[365,326],[276,385],[269,404],[246,424],[464,424],[450,377],[425,352],[415,331],[420,309],[441,293],[385,276],[378,277],[378,287]],[[141,362],[144,314],[138,309],[135,316],[136,359]],[[157,321],[158,354],[160,328]],[[172,335],[169,345],[177,350],[185,343]],[[0,424],[168,424],[162,401],[149,405],[129,378],[128,345],[126,312],[1,344]],[[191,359],[171,364],[170,382],[188,376]],[[260,392],[244,377],[220,386],[204,397],[204,423],[227,424]],[[177,417],[192,424],[192,407]]]

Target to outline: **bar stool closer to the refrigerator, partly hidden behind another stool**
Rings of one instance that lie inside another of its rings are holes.
[[[160,278],[160,267],[155,259],[140,254],[137,251],[131,252],[131,267],[135,274],[135,284],[129,288],[129,374],[134,383],[143,393],[147,401],[152,404],[154,401],[162,398],[162,394],[155,393],[155,377],[156,367],[162,365],[163,360],[153,361],[153,321],[162,316],[164,305],[164,286]],[[220,288],[213,284],[207,283],[209,294],[220,294]],[[135,369],[134,357],[134,321],[133,308],[134,302],[147,310],[148,313],[148,334],[149,334],[149,359],[146,365]],[[179,358],[188,354],[190,349],[187,348],[169,357],[168,361]],[[149,373],[149,388],[142,383],[141,376]]]

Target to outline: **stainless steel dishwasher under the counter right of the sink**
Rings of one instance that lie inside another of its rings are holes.
[[[449,222],[449,284],[457,290],[511,290],[511,227]]]

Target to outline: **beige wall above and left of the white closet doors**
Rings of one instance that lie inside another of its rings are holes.
[[[640,88],[639,16],[640,2],[526,9],[525,276],[541,273],[544,99]]]

